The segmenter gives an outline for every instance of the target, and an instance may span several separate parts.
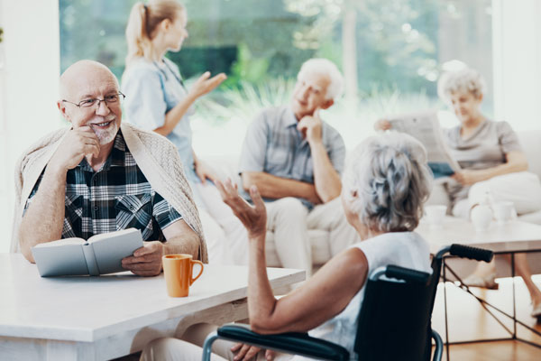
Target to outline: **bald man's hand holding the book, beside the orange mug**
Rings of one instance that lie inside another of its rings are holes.
[[[139,276],[156,276],[161,272],[163,245],[160,241],[143,242],[133,255],[122,260],[122,266]]]

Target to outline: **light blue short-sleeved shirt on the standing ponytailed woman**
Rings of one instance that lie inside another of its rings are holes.
[[[133,60],[124,71],[122,91],[126,96],[126,120],[147,130],[164,125],[166,113],[188,95],[182,84],[179,68],[168,59],[163,59],[163,62],[142,58]],[[188,181],[199,182],[194,169],[189,120],[193,113],[194,109],[190,107],[167,138],[179,149]]]

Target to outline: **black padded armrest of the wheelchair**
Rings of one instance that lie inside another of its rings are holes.
[[[323,360],[349,360],[349,352],[342,346],[306,333],[289,332],[278,335],[260,335],[247,327],[225,325],[217,330],[218,338],[243,342],[288,354],[307,356]]]

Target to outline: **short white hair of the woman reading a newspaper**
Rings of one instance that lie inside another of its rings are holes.
[[[471,68],[445,72],[437,82],[437,94],[445,103],[450,103],[451,95],[456,93],[470,93],[473,97],[480,97],[485,94],[486,88],[479,71]]]

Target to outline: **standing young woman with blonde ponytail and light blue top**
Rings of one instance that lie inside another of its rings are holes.
[[[193,151],[189,117],[194,113],[197,98],[216,88],[226,77],[221,73],[210,78],[206,71],[191,88],[185,87],[179,68],[165,54],[180,50],[188,37],[186,24],[186,9],[174,0],[133,5],[126,27],[124,111],[130,123],[166,136],[179,149],[205,228],[210,262],[218,262],[227,259],[222,242],[225,234],[242,236],[245,231],[223,204],[215,186],[206,182],[215,180],[215,174]],[[207,211],[213,213],[209,215]]]

